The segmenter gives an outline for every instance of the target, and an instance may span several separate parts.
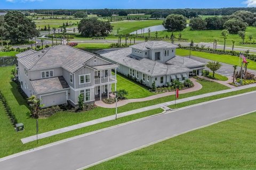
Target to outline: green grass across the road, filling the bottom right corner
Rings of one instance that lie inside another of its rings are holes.
[[[89,169],[255,169],[255,119],[237,117]]]

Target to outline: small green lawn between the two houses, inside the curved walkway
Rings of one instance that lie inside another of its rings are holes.
[[[117,78],[117,90],[126,89],[129,94],[127,96],[128,99],[138,99],[144,98],[152,95],[156,95],[154,92],[150,92],[148,89],[140,86],[139,84],[135,84],[134,82],[122,77],[121,75],[116,76]],[[114,89],[115,86],[112,88]]]

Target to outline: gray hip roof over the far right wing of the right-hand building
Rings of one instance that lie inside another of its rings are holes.
[[[191,58],[175,56],[171,60],[167,61],[166,64],[175,64],[180,66],[188,67],[189,69],[204,67],[205,63],[198,62]]]

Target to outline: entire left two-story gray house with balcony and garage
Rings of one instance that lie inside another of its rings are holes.
[[[80,49],[58,45],[27,50],[17,57],[22,90],[41,99],[44,107],[68,101],[77,105],[80,94],[84,103],[92,103],[109,97],[112,84],[116,88],[118,65]]]

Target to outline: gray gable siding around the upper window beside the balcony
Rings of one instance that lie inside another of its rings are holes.
[[[79,75],[83,75],[83,74],[90,74],[90,83],[79,84]],[[75,73],[75,79],[76,79],[76,81],[75,81],[76,89],[93,86],[94,85],[94,70],[85,66]]]

